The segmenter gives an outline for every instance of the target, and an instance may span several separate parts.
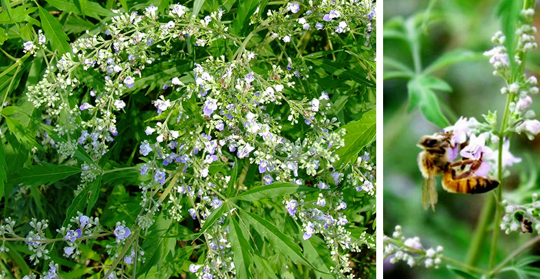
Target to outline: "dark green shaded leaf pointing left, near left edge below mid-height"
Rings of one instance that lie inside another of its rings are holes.
[[[24,183],[25,185],[34,187],[40,185],[49,186],[56,181],[68,178],[81,171],[81,168],[71,165],[54,165],[52,163],[41,162],[41,165],[32,165],[30,168],[19,170],[8,182],[14,185]]]

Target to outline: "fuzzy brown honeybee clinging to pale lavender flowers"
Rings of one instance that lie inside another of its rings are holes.
[[[478,160],[462,159],[452,163],[448,153],[452,146],[452,133],[436,133],[424,135],[417,146],[424,149],[418,155],[418,167],[424,176],[422,183],[422,204],[424,209],[435,210],[437,203],[437,188],[435,177],[443,174],[443,189],[450,193],[480,194],[495,189],[499,181],[493,178],[474,176],[480,168],[482,158]],[[469,169],[466,170],[467,165]],[[458,171],[461,171],[458,173]]]

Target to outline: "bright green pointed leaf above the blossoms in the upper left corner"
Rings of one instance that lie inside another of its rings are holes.
[[[62,25],[45,10],[39,7],[39,17],[41,19],[41,27],[45,32],[45,37],[51,42],[53,50],[58,50],[58,55],[71,52],[68,36],[62,31]]]

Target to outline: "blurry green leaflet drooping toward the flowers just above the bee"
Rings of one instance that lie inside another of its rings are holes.
[[[439,106],[439,99],[435,92],[430,88],[426,88],[421,81],[425,77],[420,76],[411,79],[407,83],[408,88],[408,111],[412,111],[415,107],[419,107],[420,111],[426,119],[439,127],[447,127],[450,123],[443,115]]]

